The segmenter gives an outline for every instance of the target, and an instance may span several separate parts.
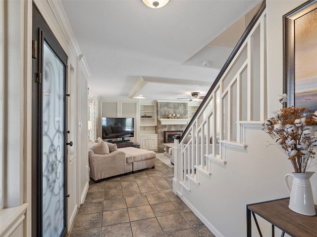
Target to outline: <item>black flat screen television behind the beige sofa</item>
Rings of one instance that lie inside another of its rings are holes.
[[[102,138],[124,140],[134,136],[134,118],[102,118]]]

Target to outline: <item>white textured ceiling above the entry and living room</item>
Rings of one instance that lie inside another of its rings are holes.
[[[170,0],[153,9],[142,0],[61,0],[91,72],[90,93],[118,99],[206,93],[260,2]]]

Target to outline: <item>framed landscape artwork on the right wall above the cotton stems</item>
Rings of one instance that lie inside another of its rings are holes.
[[[285,106],[317,111],[317,0],[283,16]]]

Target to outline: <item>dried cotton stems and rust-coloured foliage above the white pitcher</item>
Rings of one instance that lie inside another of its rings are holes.
[[[278,97],[281,103],[287,101],[287,95]],[[282,108],[265,120],[263,130],[274,139],[277,146],[292,162],[295,173],[305,173],[315,158],[313,151],[317,147],[314,125],[317,124],[317,111],[294,106]]]

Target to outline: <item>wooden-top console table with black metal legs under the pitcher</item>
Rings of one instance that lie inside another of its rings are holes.
[[[288,203],[289,197],[248,204],[247,237],[251,237],[251,213],[261,237],[262,233],[255,214],[272,224],[272,237],[275,226],[282,230],[282,237],[285,233],[292,237],[317,237],[317,215],[298,214],[288,208]],[[315,208],[317,210],[316,205]]]

